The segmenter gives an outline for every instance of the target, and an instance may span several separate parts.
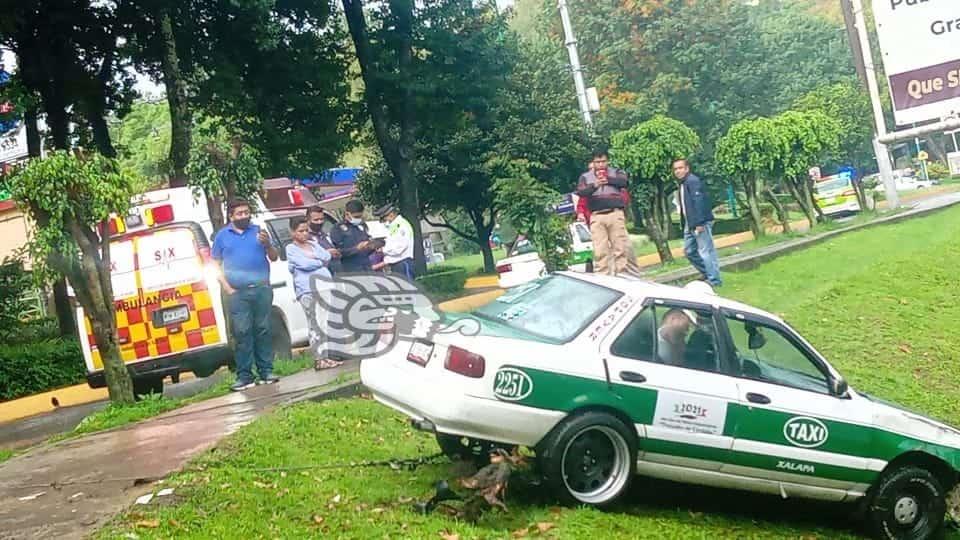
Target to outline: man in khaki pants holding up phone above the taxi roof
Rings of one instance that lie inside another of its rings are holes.
[[[624,213],[623,190],[627,173],[607,167],[607,151],[593,153],[592,170],[580,175],[577,195],[587,200],[590,234],[593,236],[594,271],[621,274],[627,268],[630,236]]]

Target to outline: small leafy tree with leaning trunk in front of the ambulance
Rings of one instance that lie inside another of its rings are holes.
[[[117,347],[110,238],[104,231],[111,214],[126,213],[133,177],[116,160],[58,150],[16,169],[6,185],[37,227],[29,244],[35,275],[52,270],[70,281],[90,320],[110,400],[132,403],[133,384]]]

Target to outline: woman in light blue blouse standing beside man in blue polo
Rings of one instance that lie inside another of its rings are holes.
[[[293,291],[297,301],[303,308],[303,313],[310,322],[310,350],[315,358],[314,368],[328,369],[337,367],[342,362],[322,358],[320,354],[321,336],[313,330],[316,321],[316,301],[310,294],[310,279],[314,275],[330,279],[330,270],[327,268],[334,257],[339,257],[335,249],[324,249],[315,240],[310,238],[310,226],[306,218],[295,217],[290,220],[290,233],[293,242],[287,245],[287,268],[293,275]]]

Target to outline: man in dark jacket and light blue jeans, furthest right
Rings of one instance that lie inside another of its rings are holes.
[[[686,159],[673,162],[673,176],[679,183],[680,222],[683,225],[683,250],[690,264],[713,285],[723,285],[720,261],[713,246],[713,210],[707,185],[690,172]]]

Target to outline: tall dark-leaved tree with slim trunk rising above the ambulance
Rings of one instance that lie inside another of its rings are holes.
[[[136,0],[126,46],[163,82],[174,185],[201,116],[229,122],[270,174],[306,176],[347,147],[353,114],[344,33],[329,2]]]

